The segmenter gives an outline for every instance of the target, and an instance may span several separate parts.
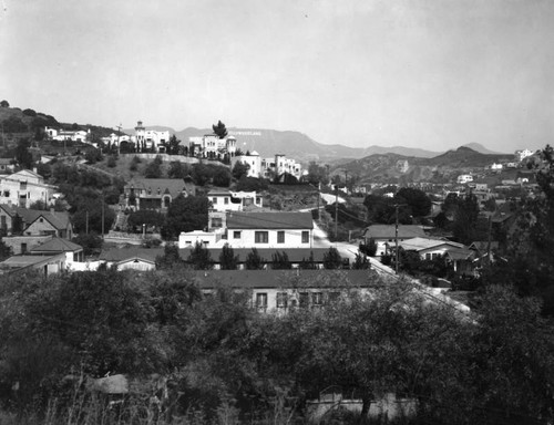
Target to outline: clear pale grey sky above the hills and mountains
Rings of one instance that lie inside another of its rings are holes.
[[[554,143],[552,0],[0,0],[0,97],[58,121]]]

